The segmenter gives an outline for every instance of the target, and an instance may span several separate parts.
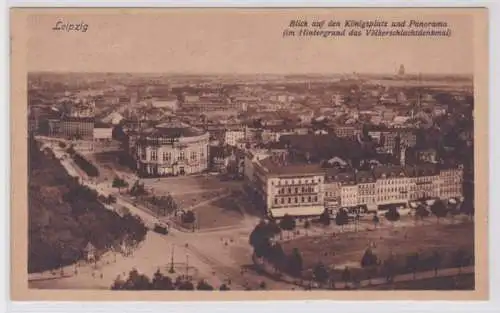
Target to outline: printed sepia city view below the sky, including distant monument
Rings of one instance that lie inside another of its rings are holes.
[[[28,75],[28,284],[474,290],[472,75]]]

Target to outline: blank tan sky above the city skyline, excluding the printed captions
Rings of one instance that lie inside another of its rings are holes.
[[[28,18],[28,70],[199,74],[473,72],[474,20],[432,9],[40,11]],[[283,37],[290,20],[446,21],[451,37]],[[87,32],[54,31],[58,20]]]

